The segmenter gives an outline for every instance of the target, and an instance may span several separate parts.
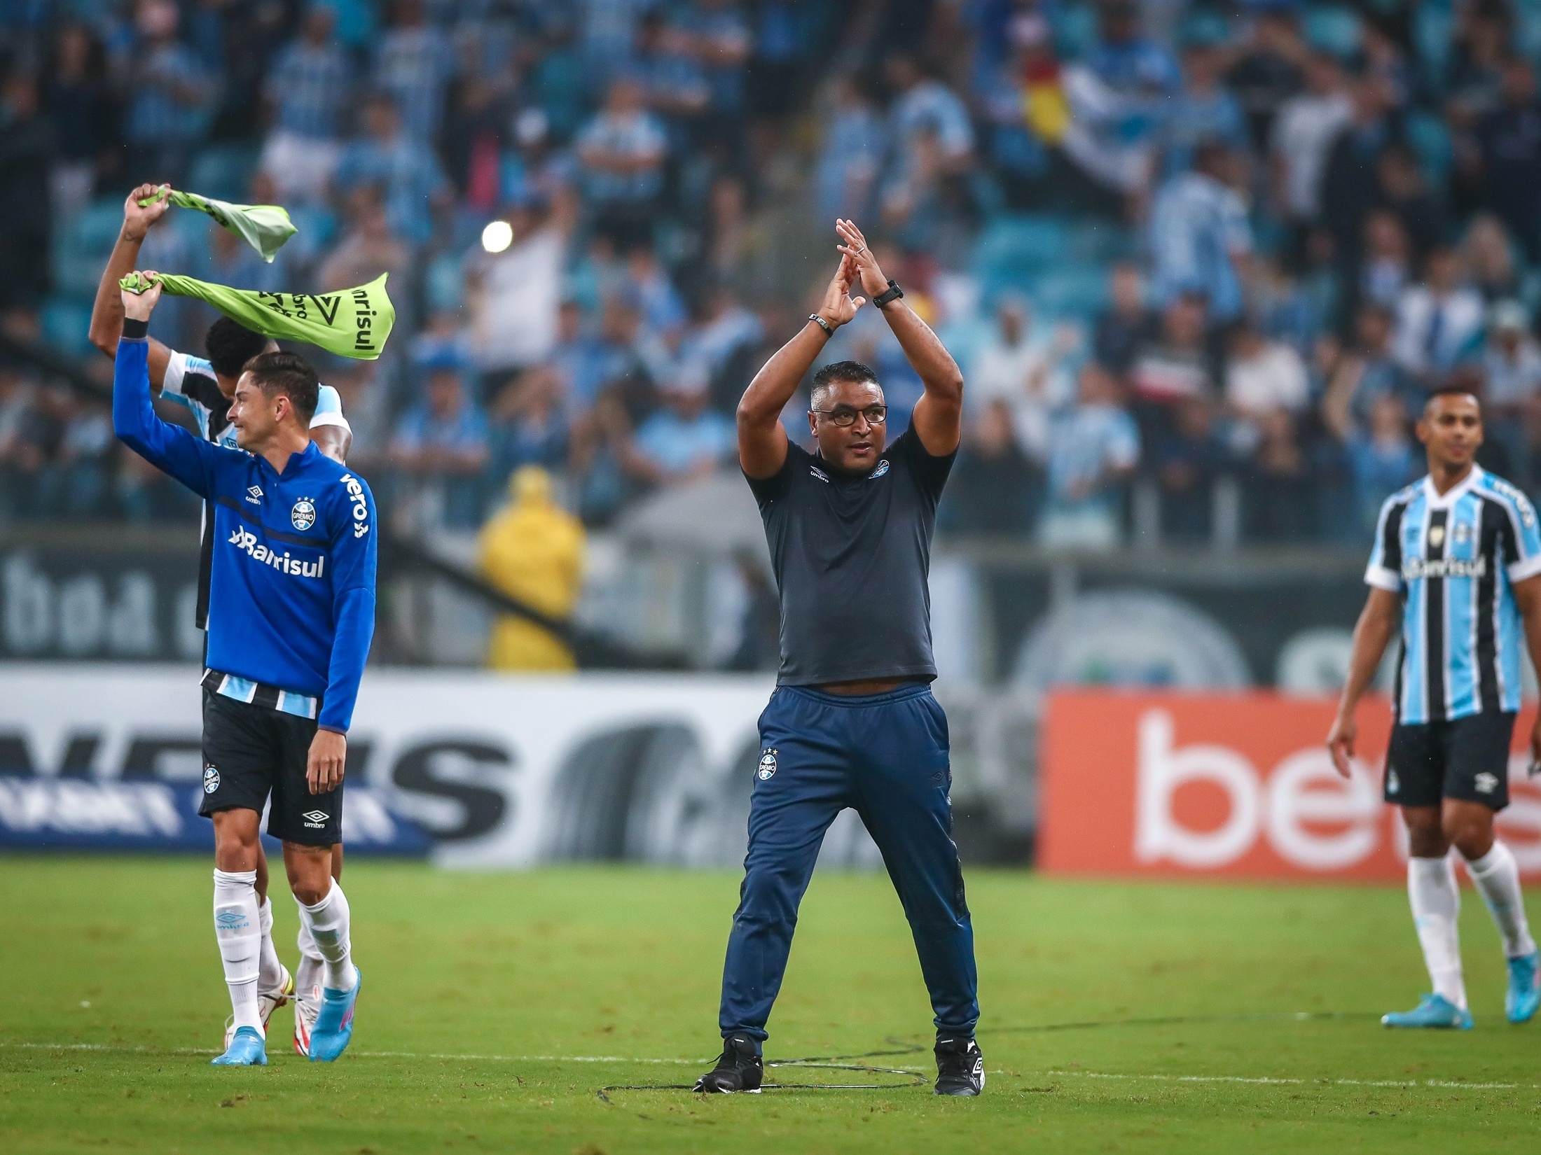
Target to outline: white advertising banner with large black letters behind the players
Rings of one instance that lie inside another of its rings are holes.
[[[199,673],[0,664],[0,775],[196,784]],[[415,819],[444,865],[732,865],[743,861],[757,719],[772,688],[763,675],[371,668],[347,781]],[[821,861],[877,861],[854,812]]]

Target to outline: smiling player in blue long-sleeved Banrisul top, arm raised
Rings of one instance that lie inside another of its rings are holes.
[[[268,833],[284,842],[300,922],[324,959],[308,1056],[331,1061],[351,1038],[359,992],[331,862],[347,730],[374,631],[374,500],[310,439],[319,382],[297,354],[247,363],[228,414],[236,450],[160,420],[146,339],[159,299],[159,283],[123,293],[112,425],[214,511],[199,810],[214,821],[214,933],[236,1027],[214,1063],[267,1063],[256,882],[270,795]]]

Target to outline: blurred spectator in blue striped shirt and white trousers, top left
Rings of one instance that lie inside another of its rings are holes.
[[[334,26],[336,12],[313,5],[300,37],[279,52],[267,77],[264,94],[274,123],[262,148],[262,171],[285,203],[319,200],[342,156],[353,68],[333,37]]]

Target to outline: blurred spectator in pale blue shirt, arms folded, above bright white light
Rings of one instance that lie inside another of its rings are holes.
[[[623,253],[652,243],[664,183],[664,131],[643,95],[632,77],[616,80],[599,116],[578,137],[595,228]]]

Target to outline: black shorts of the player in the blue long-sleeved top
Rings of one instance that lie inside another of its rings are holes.
[[[310,793],[305,762],[314,718],[296,718],[203,691],[203,801],[200,815],[242,807],[259,815],[273,795],[268,833],[300,845],[342,841],[342,785]]]

